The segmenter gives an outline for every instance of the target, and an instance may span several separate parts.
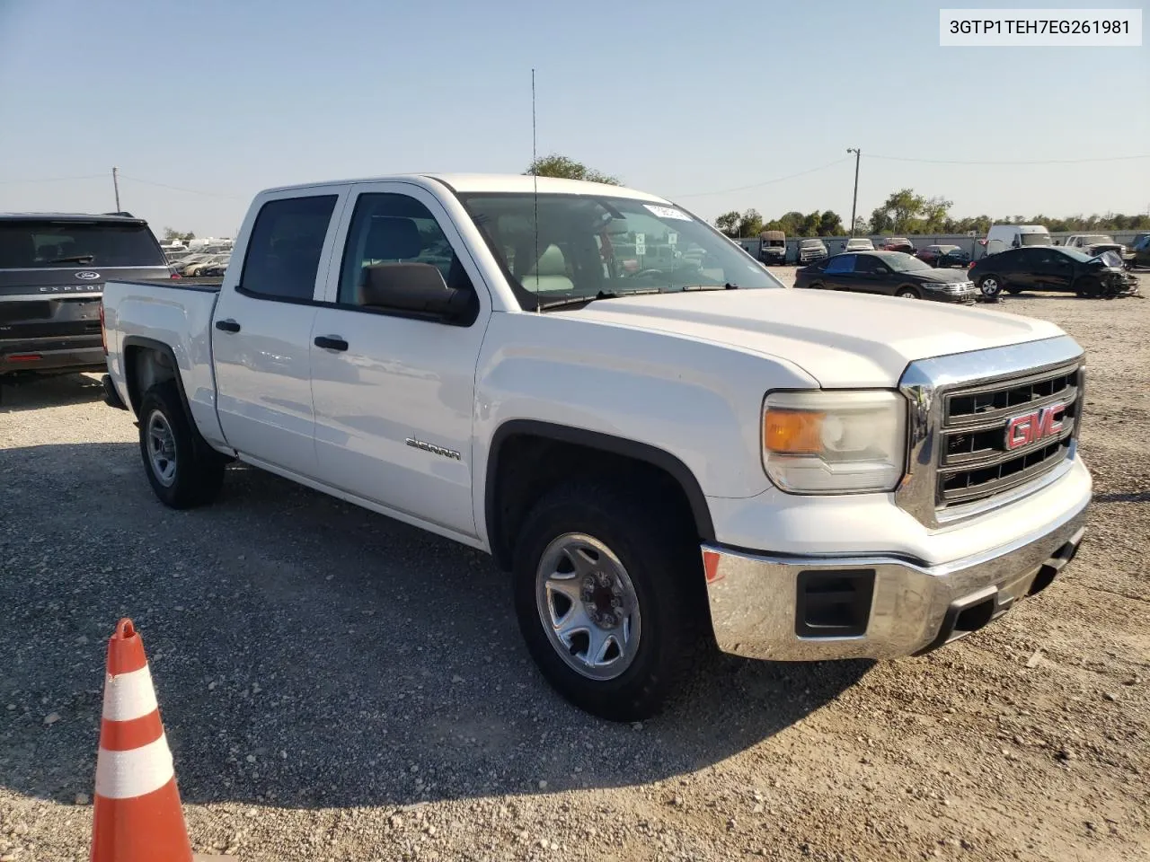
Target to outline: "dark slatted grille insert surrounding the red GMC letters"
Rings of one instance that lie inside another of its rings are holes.
[[[1055,469],[1072,451],[1078,431],[1082,369],[1075,361],[1041,372],[959,386],[943,395],[935,505],[991,500]],[[1007,448],[1012,418],[1063,405],[1060,430]]]

